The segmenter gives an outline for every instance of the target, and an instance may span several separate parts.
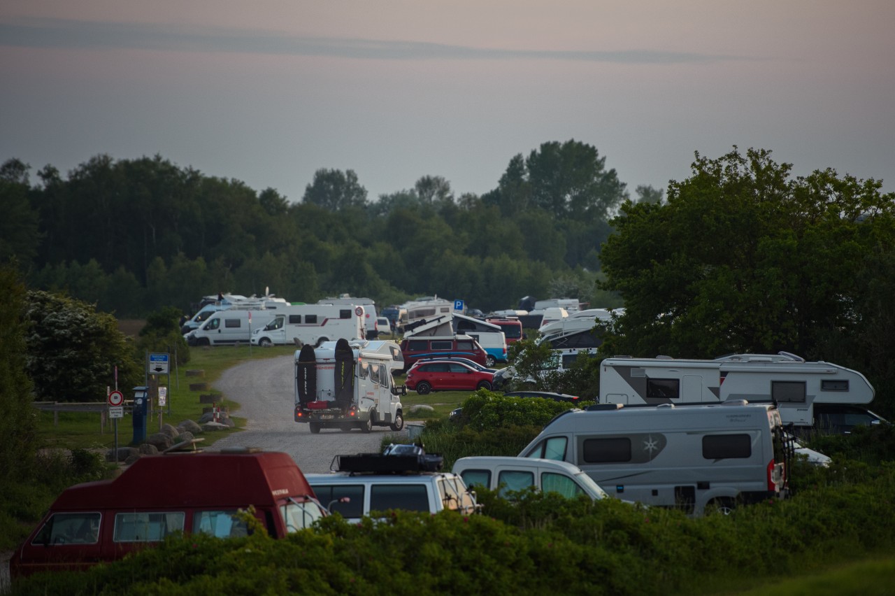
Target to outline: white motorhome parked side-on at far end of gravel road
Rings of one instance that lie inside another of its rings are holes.
[[[345,338],[363,339],[364,311],[353,304],[295,304],[274,311],[263,328],[251,334],[252,345],[321,345]]]

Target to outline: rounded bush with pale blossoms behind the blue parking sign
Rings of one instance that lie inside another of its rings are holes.
[[[79,300],[30,291],[25,318],[26,370],[35,394],[60,402],[96,402],[106,396],[115,367],[122,387],[141,381],[133,345],[110,314]]]

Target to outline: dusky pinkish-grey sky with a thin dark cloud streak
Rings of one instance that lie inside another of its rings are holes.
[[[496,188],[542,143],[632,196],[770,149],[895,192],[892,0],[4,0],[0,162],[160,155],[301,200]]]

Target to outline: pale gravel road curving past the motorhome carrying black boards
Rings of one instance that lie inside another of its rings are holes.
[[[340,454],[379,452],[383,437],[406,438],[407,430],[393,432],[374,426],[372,432],[345,432],[323,429],[312,435],[307,424],[293,420],[294,356],[277,356],[243,362],[227,369],[213,384],[226,402],[240,404],[235,416],[247,419],[245,430],[218,439],[208,450],[224,447],[259,447],[284,451],[306,473],[329,472],[333,458]]]

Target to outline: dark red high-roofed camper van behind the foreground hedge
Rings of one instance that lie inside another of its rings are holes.
[[[10,559],[12,578],[123,558],[173,532],[245,535],[234,517],[254,506],[282,538],[327,515],[285,453],[236,449],[144,456],[109,481],[64,490]]]

